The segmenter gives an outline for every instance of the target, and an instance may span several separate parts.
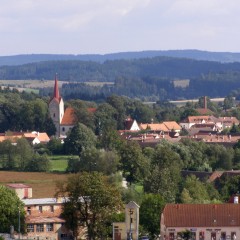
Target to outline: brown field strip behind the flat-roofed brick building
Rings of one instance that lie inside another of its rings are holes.
[[[0,184],[23,183],[32,187],[33,198],[54,197],[56,182],[65,181],[69,174],[0,171]]]

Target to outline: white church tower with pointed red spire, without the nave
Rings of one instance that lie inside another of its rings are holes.
[[[56,127],[56,136],[60,137],[60,124],[64,115],[64,102],[59,93],[57,74],[55,75],[53,96],[49,102],[49,113]]]

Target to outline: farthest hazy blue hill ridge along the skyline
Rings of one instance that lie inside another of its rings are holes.
[[[68,61],[81,60],[102,63],[107,60],[141,59],[158,56],[174,58],[190,58],[194,60],[216,61],[222,63],[240,62],[240,53],[233,52],[208,52],[200,50],[166,50],[166,51],[141,51],[120,52],[110,54],[22,54],[13,56],[0,56],[0,66],[16,66],[42,61]]]

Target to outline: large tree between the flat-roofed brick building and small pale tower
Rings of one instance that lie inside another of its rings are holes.
[[[83,172],[58,184],[58,195],[67,197],[63,206],[66,226],[78,236],[79,227],[85,225],[90,240],[106,239],[108,220],[122,209],[121,195],[102,174]]]

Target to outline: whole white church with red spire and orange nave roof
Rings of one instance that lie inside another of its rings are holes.
[[[72,107],[64,109],[64,102],[59,93],[57,74],[55,75],[53,96],[48,107],[50,117],[56,127],[55,136],[61,139],[66,138],[67,133],[74,127],[77,120]]]

